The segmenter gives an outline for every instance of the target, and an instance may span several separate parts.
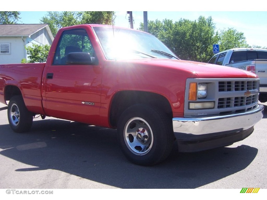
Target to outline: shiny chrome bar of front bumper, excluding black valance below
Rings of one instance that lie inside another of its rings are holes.
[[[243,131],[259,122],[263,117],[263,112],[264,106],[258,105],[246,113],[201,118],[173,118],[173,130],[190,135]]]

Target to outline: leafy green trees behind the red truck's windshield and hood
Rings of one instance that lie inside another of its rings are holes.
[[[140,24],[144,30],[144,24]],[[200,16],[197,20],[180,19],[172,22],[164,19],[148,21],[148,32],[155,35],[179,58],[207,62],[214,55],[213,44],[220,45],[220,51],[249,46],[244,33],[233,28],[216,31],[211,17]],[[260,47],[253,45],[252,47]],[[263,47],[266,48],[266,47]]]

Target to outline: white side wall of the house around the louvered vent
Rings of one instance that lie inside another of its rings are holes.
[[[10,54],[0,54],[0,64],[21,63],[26,52],[23,40],[21,37],[0,37],[0,43],[10,43]]]

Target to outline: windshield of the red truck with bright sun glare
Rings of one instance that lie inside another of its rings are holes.
[[[153,35],[128,29],[113,29],[112,27],[93,27],[93,30],[108,60],[131,58],[177,59],[175,58],[176,55]]]

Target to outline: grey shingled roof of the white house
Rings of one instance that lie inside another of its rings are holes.
[[[47,24],[0,24],[0,35],[32,35]]]

